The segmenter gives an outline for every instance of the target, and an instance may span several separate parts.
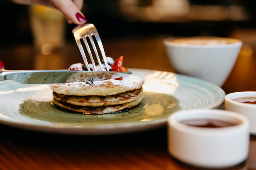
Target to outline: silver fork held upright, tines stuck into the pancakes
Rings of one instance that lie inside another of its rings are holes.
[[[88,64],[88,61],[87,61],[87,58],[86,58],[86,55],[85,55],[85,51],[83,50],[83,47],[82,47],[82,44],[81,44],[82,40],[85,43],[85,46],[86,46],[87,52],[90,56],[90,60],[92,61],[94,70],[96,71],[97,69],[96,69],[94,59],[93,59],[92,52],[91,52],[90,47],[89,47],[89,43],[92,45],[93,50],[94,50],[94,54],[96,55],[96,58],[99,62],[100,69],[101,69],[101,71],[103,71],[101,60],[100,60],[99,54],[98,54],[97,49],[96,49],[96,45],[95,45],[94,40],[93,40],[93,37],[94,37],[96,39],[97,43],[98,43],[98,46],[99,46],[99,49],[100,49],[100,52],[101,52],[101,56],[103,57],[103,61],[104,61],[104,64],[106,66],[106,70],[109,72],[108,63],[107,63],[107,59],[106,59],[106,54],[105,54],[105,51],[104,51],[104,48],[103,48],[103,45],[102,45],[102,42],[100,40],[100,36],[98,34],[98,31],[97,31],[96,27],[91,23],[86,23],[86,24],[76,26],[72,30],[72,33],[75,37],[77,46],[80,50],[80,53],[83,57],[83,61],[85,62],[85,66],[87,67],[88,71],[90,71],[90,67],[89,67],[89,64]]]

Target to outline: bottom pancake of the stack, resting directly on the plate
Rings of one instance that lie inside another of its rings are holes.
[[[70,104],[65,104],[62,102],[59,102],[57,100],[52,101],[52,104],[54,104],[56,107],[74,111],[77,113],[83,113],[83,114],[105,114],[105,113],[115,113],[124,109],[132,108],[140,104],[144,99],[144,95],[141,95],[137,100],[124,103],[124,104],[118,104],[114,106],[102,106],[102,107],[89,107],[89,106],[75,106]]]

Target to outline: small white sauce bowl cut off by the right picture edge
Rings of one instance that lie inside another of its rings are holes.
[[[256,135],[256,104],[241,103],[234,101],[241,97],[256,97],[256,91],[241,91],[230,93],[225,96],[225,110],[235,111],[247,117],[250,121],[250,133]]]

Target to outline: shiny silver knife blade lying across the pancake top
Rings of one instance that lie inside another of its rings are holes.
[[[83,81],[117,79],[132,72],[94,72],[73,70],[3,70],[0,81],[14,80],[23,84],[65,83],[67,79],[82,77]],[[70,78],[71,77],[71,78]]]

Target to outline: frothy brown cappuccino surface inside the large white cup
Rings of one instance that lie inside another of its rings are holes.
[[[234,38],[222,38],[214,36],[180,37],[169,39],[168,41],[188,45],[223,45],[240,42],[240,40]]]

